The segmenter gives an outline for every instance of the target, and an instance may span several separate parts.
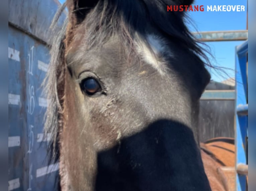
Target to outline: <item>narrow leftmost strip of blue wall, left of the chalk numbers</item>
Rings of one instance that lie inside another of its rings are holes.
[[[16,36],[16,38],[14,38]],[[24,35],[8,31],[9,41],[9,190],[27,189],[27,113],[25,54],[21,39]],[[19,138],[12,143],[12,138]],[[18,180],[12,186],[12,180]]]

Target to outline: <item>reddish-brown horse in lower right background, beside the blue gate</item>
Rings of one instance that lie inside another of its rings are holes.
[[[213,191],[235,190],[235,144],[233,138],[218,137],[200,144],[204,168]]]

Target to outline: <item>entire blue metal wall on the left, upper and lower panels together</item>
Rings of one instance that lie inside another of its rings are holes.
[[[9,0],[9,190],[56,190],[58,164],[47,168],[42,139],[47,100],[41,83],[49,62],[45,43],[59,5],[58,0]],[[66,12],[59,28],[65,17]]]

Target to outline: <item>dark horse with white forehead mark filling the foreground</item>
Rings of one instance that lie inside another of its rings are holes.
[[[48,153],[69,191],[211,190],[198,136],[212,67],[167,5],[193,0],[67,0],[44,81]],[[54,31],[54,29],[53,29]],[[209,160],[209,159],[206,159]]]

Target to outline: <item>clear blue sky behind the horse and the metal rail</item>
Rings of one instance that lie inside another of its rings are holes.
[[[65,0],[59,0],[60,3]],[[247,0],[195,0],[194,5],[204,5],[204,12],[188,12],[193,21],[193,25],[198,31],[226,31],[226,30],[245,30],[246,29],[246,10]],[[245,5],[245,12],[207,12],[207,5]],[[188,23],[191,32],[195,28]],[[242,44],[242,41],[229,42],[208,42],[211,53],[215,61],[211,60],[213,65],[230,68],[226,70],[230,77],[235,76],[235,47]],[[212,80],[221,82],[228,76],[219,75],[218,72],[210,71]]]

